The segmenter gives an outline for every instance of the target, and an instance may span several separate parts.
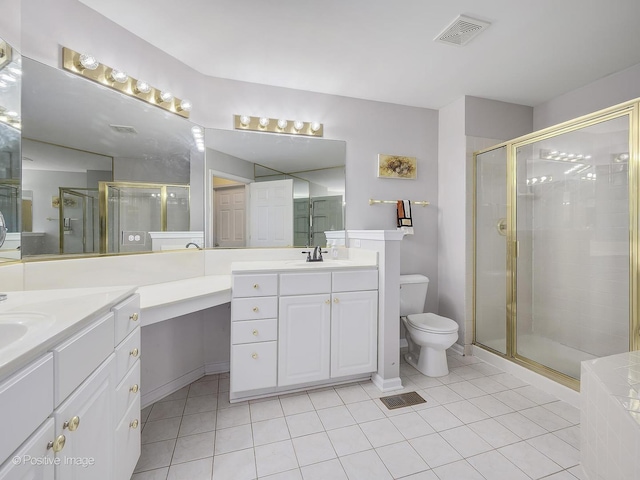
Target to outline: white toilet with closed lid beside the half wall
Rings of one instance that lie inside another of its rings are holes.
[[[458,340],[458,324],[435,313],[422,313],[429,279],[400,275],[400,318],[406,328],[409,351],[404,358],[428,377],[449,374],[447,348]]]

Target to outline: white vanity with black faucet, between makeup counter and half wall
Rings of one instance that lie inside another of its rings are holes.
[[[376,371],[375,267],[256,261],[231,270],[231,402]]]

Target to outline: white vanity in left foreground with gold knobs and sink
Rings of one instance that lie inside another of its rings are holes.
[[[13,292],[0,306],[13,319],[2,326],[21,335],[0,346],[0,422],[11,432],[0,437],[0,479],[131,476],[141,427],[134,291]]]

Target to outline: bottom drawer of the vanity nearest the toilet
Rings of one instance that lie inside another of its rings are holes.
[[[231,346],[231,391],[276,386],[278,342]]]

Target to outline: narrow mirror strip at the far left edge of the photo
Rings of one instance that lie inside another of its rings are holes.
[[[22,59],[0,38],[0,261],[20,259]]]

